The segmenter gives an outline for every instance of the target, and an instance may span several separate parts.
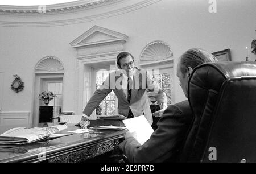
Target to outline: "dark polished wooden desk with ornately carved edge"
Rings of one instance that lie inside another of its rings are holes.
[[[91,123],[90,126],[99,125],[96,121],[91,121]],[[60,133],[71,134],[67,131],[77,129],[74,125],[67,124],[67,126],[68,129]],[[1,149],[0,162],[82,162],[114,150],[120,139],[124,138],[126,131],[72,134],[55,140],[10,148],[9,150]]]

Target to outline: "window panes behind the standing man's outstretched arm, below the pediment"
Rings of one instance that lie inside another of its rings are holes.
[[[100,88],[104,80],[108,77],[110,71],[96,71],[96,89]],[[117,114],[117,97],[113,90],[96,107],[96,115],[114,115]]]

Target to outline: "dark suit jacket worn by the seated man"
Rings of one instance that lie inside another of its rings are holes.
[[[143,146],[133,138],[119,144],[129,162],[175,161],[192,123],[188,100],[170,105],[159,119],[156,129]]]

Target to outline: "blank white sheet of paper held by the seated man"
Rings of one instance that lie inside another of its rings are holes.
[[[144,115],[122,121],[130,132],[136,132],[137,141],[143,145],[154,132]]]

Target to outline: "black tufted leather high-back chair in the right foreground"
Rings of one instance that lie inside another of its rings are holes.
[[[188,96],[195,118],[180,161],[256,162],[256,63],[200,65]]]

